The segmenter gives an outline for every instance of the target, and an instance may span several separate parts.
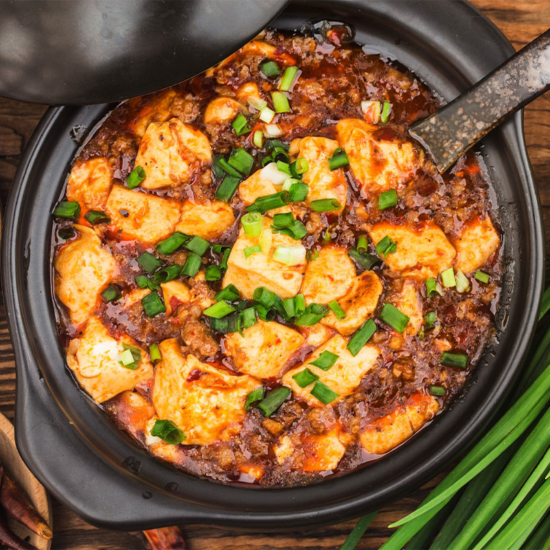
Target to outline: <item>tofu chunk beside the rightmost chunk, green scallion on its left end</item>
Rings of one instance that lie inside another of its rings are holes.
[[[380,222],[373,225],[369,234],[375,244],[386,235],[397,243],[397,251],[388,254],[384,262],[392,271],[401,272],[405,277],[437,277],[452,265],[456,255],[445,233],[431,221],[421,228]]]

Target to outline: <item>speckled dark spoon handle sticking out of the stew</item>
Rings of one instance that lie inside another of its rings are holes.
[[[550,88],[550,29],[433,115],[410,127],[440,173],[500,122]]]

